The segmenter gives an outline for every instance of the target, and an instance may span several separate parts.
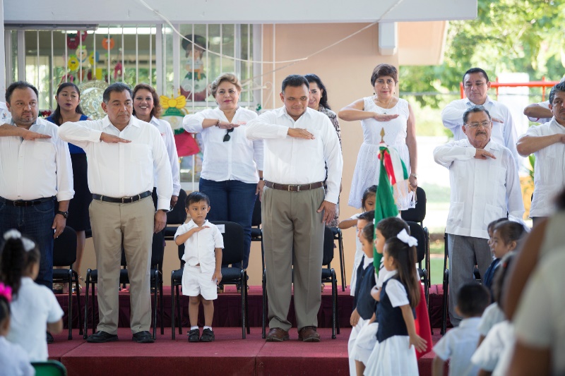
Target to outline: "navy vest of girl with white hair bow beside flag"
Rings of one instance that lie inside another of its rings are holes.
[[[393,307],[391,299],[386,295],[386,285],[391,279],[398,278],[398,274],[383,283],[381,288],[381,301],[376,308],[376,320],[379,322],[379,329],[376,331],[376,340],[380,342],[390,338],[391,336],[408,336],[408,329],[402,315],[400,307]],[[406,286],[404,286],[406,288]],[[412,308],[412,315],[416,317],[416,312]]]

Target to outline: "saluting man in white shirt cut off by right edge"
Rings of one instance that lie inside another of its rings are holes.
[[[565,83],[549,93],[553,117],[541,126],[528,128],[516,147],[523,157],[535,155],[534,195],[530,207],[533,225],[554,212],[553,198],[565,188]]]

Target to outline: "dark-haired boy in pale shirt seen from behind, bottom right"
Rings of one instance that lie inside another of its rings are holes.
[[[444,365],[449,361],[449,375],[475,376],[479,367],[471,363],[471,356],[479,341],[480,317],[490,303],[486,287],[475,282],[461,286],[457,293],[456,313],[463,316],[458,327],[451,329],[434,346],[436,357],[432,375],[444,375]]]

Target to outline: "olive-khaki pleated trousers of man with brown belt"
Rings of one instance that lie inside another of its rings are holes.
[[[294,265],[295,312],[298,329],[318,326],[324,224],[316,211],[323,188],[287,192],[265,187],[261,203],[267,269],[269,327],[288,331]]]

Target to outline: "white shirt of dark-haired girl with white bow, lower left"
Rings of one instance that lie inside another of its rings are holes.
[[[63,310],[53,291],[23,277],[20,290],[10,304],[10,332],[6,338],[28,351],[32,362],[47,360],[47,322],[57,322]]]

